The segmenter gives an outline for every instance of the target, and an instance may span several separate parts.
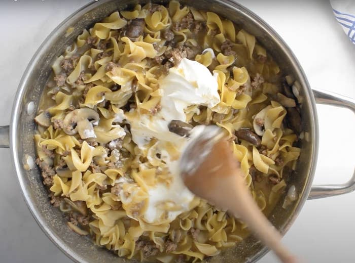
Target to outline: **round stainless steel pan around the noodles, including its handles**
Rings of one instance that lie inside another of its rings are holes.
[[[48,193],[42,184],[40,171],[37,167],[25,170],[23,163],[26,156],[35,158],[33,143],[34,112],[28,111],[31,103],[38,108],[44,84],[51,72],[54,59],[64,52],[64,49],[75,41],[76,36],[84,28],[91,27],[95,22],[114,11],[132,7],[138,0],[100,0],[95,1],[65,19],[42,43],[27,66],[20,81],[13,106],[12,120],[9,126],[0,127],[0,147],[11,148],[12,159],[21,185],[24,199],[35,220],[67,256],[77,262],[128,262],[103,248],[94,246],[88,238],[80,237],[67,228],[59,209],[50,205]],[[143,1],[144,2],[144,1]],[[162,1],[153,1],[159,2]],[[242,25],[244,29],[254,34],[261,44],[274,57],[283,72],[295,76],[302,86],[302,126],[308,133],[302,140],[301,156],[293,182],[300,193],[300,199],[288,209],[281,208],[279,203],[269,216],[269,220],[282,233],[291,227],[304,202],[308,199],[339,195],[355,190],[355,174],[349,182],[340,185],[312,186],[317,160],[318,125],[315,103],[346,107],[355,112],[355,102],[352,99],[328,92],[312,91],[307,78],[294,54],[280,36],[261,18],[236,4],[232,0],[195,0],[182,1],[183,4],[198,9],[214,11]],[[66,29],[74,27],[74,32],[65,36]],[[9,137],[10,135],[10,137]],[[254,262],[266,252],[264,247],[253,236],[237,246],[223,251],[210,262]]]

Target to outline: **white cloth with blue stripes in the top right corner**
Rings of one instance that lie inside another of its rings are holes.
[[[355,44],[355,0],[330,0],[335,18]]]

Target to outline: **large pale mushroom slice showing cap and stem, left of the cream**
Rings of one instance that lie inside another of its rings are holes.
[[[66,114],[63,130],[67,135],[79,133],[81,139],[96,138],[93,125],[97,125],[98,113],[90,108],[76,109]]]

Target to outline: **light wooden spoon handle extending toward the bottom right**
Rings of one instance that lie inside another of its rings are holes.
[[[235,178],[236,180],[243,180],[240,174],[235,174]],[[296,257],[282,245],[280,233],[261,212],[250,192],[244,187],[244,182],[236,183],[235,205],[230,206],[230,210],[241,218],[258,238],[275,252],[282,262],[296,263]]]

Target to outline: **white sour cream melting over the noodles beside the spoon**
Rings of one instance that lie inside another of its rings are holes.
[[[181,152],[188,139],[171,133],[168,124],[171,120],[186,121],[184,110],[191,105],[216,106],[220,102],[217,78],[202,64],[184,58],[179,66],[170,68],[168,75],[159,80],[159,89],[161,110],[154,116],[141,114],[130,119],[132,140],[143,150],[152,138],[156,138],[174,143]],[[180,178],[178,160],[171,160],[168,154],[162,154],[162,159],[169,168],[172,182],[169,187],[157,184],[149,189],[148,208],[144,214],[148,223],[158,223],[162,216],[173,221],[190,209],[194,199]],[[164,202],[173,202],[179,209],[164,211],[159,205]]]

